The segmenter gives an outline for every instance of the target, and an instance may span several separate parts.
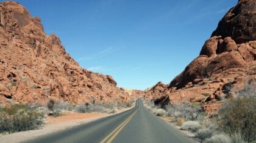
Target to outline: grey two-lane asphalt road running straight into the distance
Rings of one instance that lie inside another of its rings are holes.
[[[28,142],[195,142],[143,107],[98,119],[68,130],[42,136]]]

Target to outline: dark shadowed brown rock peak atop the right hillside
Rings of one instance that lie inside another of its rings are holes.
[[[239,0],[219,21],[212,36],[232,37],[237,44],[256,40],[256,1]]]

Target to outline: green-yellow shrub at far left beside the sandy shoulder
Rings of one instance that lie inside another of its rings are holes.
[[[0,132],[32,130],[43,124],[44,115],[37,108],[13,104],[0,108]]]

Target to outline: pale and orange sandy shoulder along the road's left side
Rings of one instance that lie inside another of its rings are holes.
[[[123,108],[121,110],[118,110],[117,113],[129,110],[130,108]],[[0,135],[0,142],[24,142],[29,139],[37,138],[38,136],[47,135],[56,131],[66,130],[76,125],[85,124],[87,122],[91,122],[96,119],[104,118],[110,115],[113,114],[63,112],[62,116],[56,118],[48,117],[45,121],[46,124],[44,124],[43,127],[38,128],[37,130],[20,131],[9,135]]]

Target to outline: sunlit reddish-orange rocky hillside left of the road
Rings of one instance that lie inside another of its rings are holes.
[[[0,101],[127,101],[112,76],[79,67],[40,18],[16,2],[0,3]]]

